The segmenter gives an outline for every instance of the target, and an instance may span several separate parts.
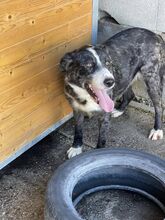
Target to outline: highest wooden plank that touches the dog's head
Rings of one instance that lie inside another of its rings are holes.
[[[0,69],[0,95],[11,90],[24,80],[34,77],[39,72],[54,67],[59,63],[60,58],[67,52],[76,48],[76,45],[83,45],[90,42],[89,32],[75,37],[55,48],[48,49],[37,56],[31,56],[25,62],[18,63],[17,66],[9,66]],[[77,47],[78,47],[77,46]]]

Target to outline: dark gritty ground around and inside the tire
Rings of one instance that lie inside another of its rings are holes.
[[[147,139],[152,126],[151,114],[129,107],[123,116],[112,120],[107,147],[133,148],[165,158],[165,139],[155,142]],[[66,160],[73,129],[71,119],[1,171],[1,220],[43,219],[46,186],[53,172]],[[95,147],[97,135],[97,118],[86,120],[84,151]],[[155,204],[124,191],[90,195],[77,209],[87,220],[163,220]]]

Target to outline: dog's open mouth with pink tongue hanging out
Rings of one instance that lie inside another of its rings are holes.
[[[107,94],[105,89],[98,89],[93,87],[91,84],[86,83],[85,88],[89,95],[97,102],[98,105],[105,111],[105,112],[112,112],[114,109],[114,102]]]

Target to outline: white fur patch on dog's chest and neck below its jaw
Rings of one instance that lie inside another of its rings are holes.
[[[74,89],[74,92],[78,95],[79,99],[86,100],[86,104],[80,104],[76,100],[73,100],[73,107],[83,112],[101,111],[100,106],[93,100],[89,93],[76,85],[70,84]]]

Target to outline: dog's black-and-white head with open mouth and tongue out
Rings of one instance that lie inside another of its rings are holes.
[[[65,72],[65,82],[75,84],[92,96],[97,103],[105,108],[110,91],[115,85],[111,59],[105,46],[86,46],[67,53],[60,62]],[[112,100],[111,100],[112,101]],[[111,103],[112,108],[112,103]]]

